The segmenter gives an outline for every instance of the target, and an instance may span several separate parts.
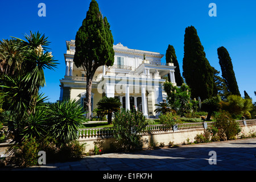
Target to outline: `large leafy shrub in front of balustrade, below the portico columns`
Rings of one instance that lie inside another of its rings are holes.
[[[120,150],[131,151],[142,146],[142,131],[146,128],[147,122],[143,113],[122,109],[116,112],[113,121],[115,139],[118,140]]]

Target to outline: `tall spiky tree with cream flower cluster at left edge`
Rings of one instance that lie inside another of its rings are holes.
[[[56,60],[53,60],[51,53],[47,51],[48,48],[46,46],[48,46],[49,42],[44,35],[39,34],[39,32],[36,34],[31,32],[31,35],[26,35],[25,38],[26,41],[14,38],[16,44],[11,46],[21,54],[20,60],[22,61],[16,62],[22,62],[22,72],[15,77],[4,74],[0,80],[2,84],[0,92],[3,93],[4,97],[10,99],[10,111],[15,117],[16,142],[20,142],[19,135],[23,129],[24,121],[30,114],[35,113],[39,89],[46,83],[44,69],[53,69],[57,64],[55,63]],[[46,52],[43,52],[44,49]],[[13,56],[8,53],[11,54],[12,52],[5,51],[1,54],[1,59],[10,60],[8,57]],[[18,60],[18,57],[16,60]],[[6,69],[6,67],[3,68],[3,70]]]

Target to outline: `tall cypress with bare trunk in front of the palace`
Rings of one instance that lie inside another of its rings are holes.
[[[86,73],[86,110],[88,118],[92,117],[92,78],[96,69],[102,65],[114,64],[113,36],[110,24],[102,14],[95,0],[90,2],[86,18],[76,34],[76,52],[74,63]]]

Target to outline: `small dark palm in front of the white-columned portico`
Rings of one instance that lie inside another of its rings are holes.
[[[121,102],[114,97],[102,97],[100,101],[98,101],[98,109],[102,114],[108,115],[108,124],[112,124],[112,113],[120,110],[122,106]]]

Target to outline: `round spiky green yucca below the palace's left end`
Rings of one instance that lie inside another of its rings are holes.
[[[49,105],[48,133],[59,145],[77,139],[77,131],[85,122],[84,110],[75,100],[56,102]]]

